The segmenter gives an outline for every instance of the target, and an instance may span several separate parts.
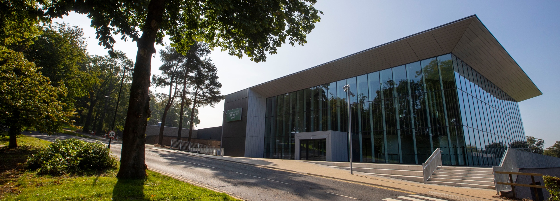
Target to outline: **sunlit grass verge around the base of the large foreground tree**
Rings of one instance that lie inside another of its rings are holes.
[[[7,137],[0,138],[0,144],[7,143]],[[153,171],[147,171],[146,179],[125,180],[116,179],[118,170],[64,176],[26,170],[27,156],[48,143],[20,135],[20,147],[0,147],[1,200],[237,200]]]

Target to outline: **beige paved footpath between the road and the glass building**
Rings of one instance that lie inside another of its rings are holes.
[[[169,152],[181,152],[181,151],[176,151],[171,149],[153,147],[150,144],[147,144],[146,148],[159,149],[161,151],[169,151]],[[216,158],[218,160],[246,163],[246,164],[256,165],[256,166],[264,166],[272,169],[297,172],[297,173],[307,174],[307,175],[329,177],[333,179],[340,179],[346,181],[354,181],[357,183],[383,186],[386,188],[410,191],[413,193],[434,195],[437,197],[443,197],[443,198],[454,199],[454,200],[464,200],[464,201],[502,200],[498,198],[492,198],[492,196],[496,195],[496,190],[491,190],[491,189],[477,189],[477,188],[466,188],[460,186],[422,184],[413,181],[393,179],[389,177],[366,175],[356,171],[354,171],[354,175],[351,175],[349,170],[338,169],[334,167],[319,165],[319,164],[305,162],[305,161],[282,160],[282,159],[271,159],[271,158],[221,157],[221,156],[207,156],[207,155],[200,155],[200,156]]]

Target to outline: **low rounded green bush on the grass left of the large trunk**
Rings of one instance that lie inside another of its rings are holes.
[[[48,147],[27,159],[27,167],[38,174],[90,174],[112,169],[118,165],[116,157],[100,142],[78,139],[55,140]]]

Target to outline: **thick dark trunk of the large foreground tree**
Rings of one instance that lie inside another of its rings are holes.
[[[152,54],[156,53],[157,31],[165,11],[164,0],[151,0],[148,4],[146,22],[142,28],[142,36],[136,46],[136,62],[132,73],[130,99],[127,120],[123,130],[123,146],[120,155],[120,169],[116,175],[123,179],[143,179],[146,177],[144,162],[144,145],[146,143],[146,125],[150,118],[150,68]]]

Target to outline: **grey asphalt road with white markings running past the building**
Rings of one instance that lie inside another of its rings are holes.
[[[54,141],[55,138],[95,141],[65,134],[50,137],[38,133],[26,133],[26,135],[48,141]],[[115,156],[120,156],[120,151],[120,143],[111,143],[111,152]],[[245,200],[446,201],[414,197],[418,195],[399,190],[152,148],[146,148],[146,164],[150,169],[211,186]]]

